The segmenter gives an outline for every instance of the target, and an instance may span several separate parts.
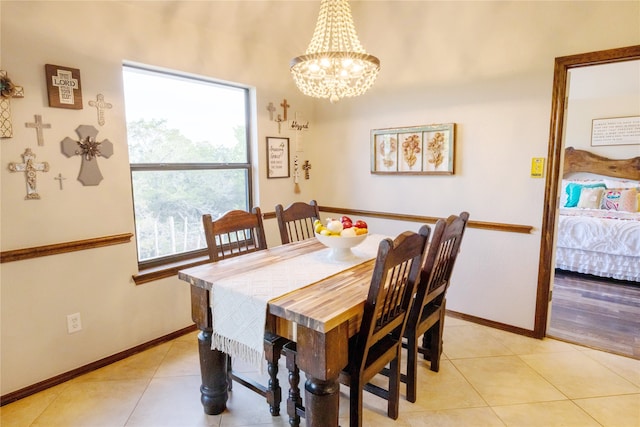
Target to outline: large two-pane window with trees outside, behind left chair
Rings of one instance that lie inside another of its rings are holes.
[[[202,215],[248,210],[249,90],[123,67],[139,267],[206,254]]]

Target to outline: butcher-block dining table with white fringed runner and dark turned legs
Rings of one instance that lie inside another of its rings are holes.
[[[226,409],[228,356],[255,363],[258,354],[263,362],[259,338],[270,333],[296,343],[296,363],[306,375],[306,425],[338,426],[338,379],[385,237],[368,235],[340,257],[313,237],[181,270],[179,279],[191,285],[192,318],[200,330],[204,412]]]

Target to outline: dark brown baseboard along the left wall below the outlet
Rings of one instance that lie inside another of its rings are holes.
[[[151,347],[155,347],[159,344],[163,344],[165,342],[174,340],[178,337],[181,337],[182,335],[188,334],[195,330],[197,330],[196,325],[187,326],[186,328],[182,328],[180,330],[177,330],[175,332],[172,332],[160,338],[156,338],[149,342],[132,347],[128,350],[121,351],[120,353],[116,353],[109,357],[105,357],[104,359],[100,359],[95,362],[89,363],[88,365],[84,365],[79,368],[73,369],[71,371],[65,372],[63,374],[56,375],[53,378],[40,381],[39,383],[32,384],[23,389],[20,389],[11,393],[7,393],[3,396],[0,396],[0,406],[4,406],[8,403],[15,402],[16,400],[20,400],[27,396],[31,396],[32,394],[41,392],[43,390],[46,390],[58,384],[62,384],[64,382],[69,381],[70,379],[73,379],[80,375],[84,375],[91,371],[95,371],[96,369],[103,368],[119,360],[126,359],[127,357],[133,356],[136,353],[140,353],[141,351],[148,350]]]

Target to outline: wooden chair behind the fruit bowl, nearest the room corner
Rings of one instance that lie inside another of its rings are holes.
[[[276,205],[276,219],[282,244],[305,240],[314,236],[313,221],[320,219],[320,208],[315,200],[308,204],[294,202],[286,209]]]

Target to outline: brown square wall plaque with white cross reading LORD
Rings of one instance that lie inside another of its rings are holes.
[[[47,93],[49,107],[82,109],[82,86],[80,70],[46,64]]]

